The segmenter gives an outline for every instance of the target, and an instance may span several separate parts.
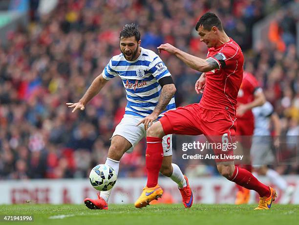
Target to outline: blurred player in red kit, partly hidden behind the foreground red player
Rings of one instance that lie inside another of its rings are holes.
[[[251,172],[250,162],[250,148],[251,136],[254,132],[254,115],[251,111],[252,108],[262,106],[266,102],[263,90],[259,87],[258,82],[253,74],[244,71],[243,80],[238,91],[237,96],[237,126],[236,135],[238,136],[239,143],[242,145],[243,154],[247,159],[239,167],[247,169]],[[245,204],[250,200],[250,191],[240,185],[237,185],[239,191],[236,195],[235,204]]]

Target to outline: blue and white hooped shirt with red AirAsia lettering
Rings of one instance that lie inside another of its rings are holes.
[[[158,104],[162,90],[158,81],[171,76],[161,58],[145,48],[141,48],[140,56],[134,61],[127,61],[122,53],[113,56],[102,75],[107,80],[120,76],[127,92],[125,114],[140,117],[148,116]],[[174,96],[163,112],[171,109],[175,109]]]

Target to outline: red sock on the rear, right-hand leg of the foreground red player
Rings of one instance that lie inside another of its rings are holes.
[[[256,177],[252,175],[252,173],[245,169],[235,166],[235,172],[232,178],[229,180],[247,189],[255,190],[260,197],[270,196],[270,188],[259,182]]]

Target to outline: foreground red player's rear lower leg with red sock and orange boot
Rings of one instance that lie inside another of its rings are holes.
[[[273,188],[259,182],[249,171],[236,167],[234,162],[219,162],[217,169],[226,179],[259,194],[258,207],[255,209],[270,209],[277,196]]]

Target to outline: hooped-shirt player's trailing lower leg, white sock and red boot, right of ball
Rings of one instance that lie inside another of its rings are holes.
[[[188,179],[186,176],[183,175],[179,166],[171,162],[172,156],[164,157],[160,172],[164,176],[170,177],[171,180],[177,183],[177,186],[182,195],[182,202],[184,206],[186,208],[190,208],[193,203],[193,194]]]

